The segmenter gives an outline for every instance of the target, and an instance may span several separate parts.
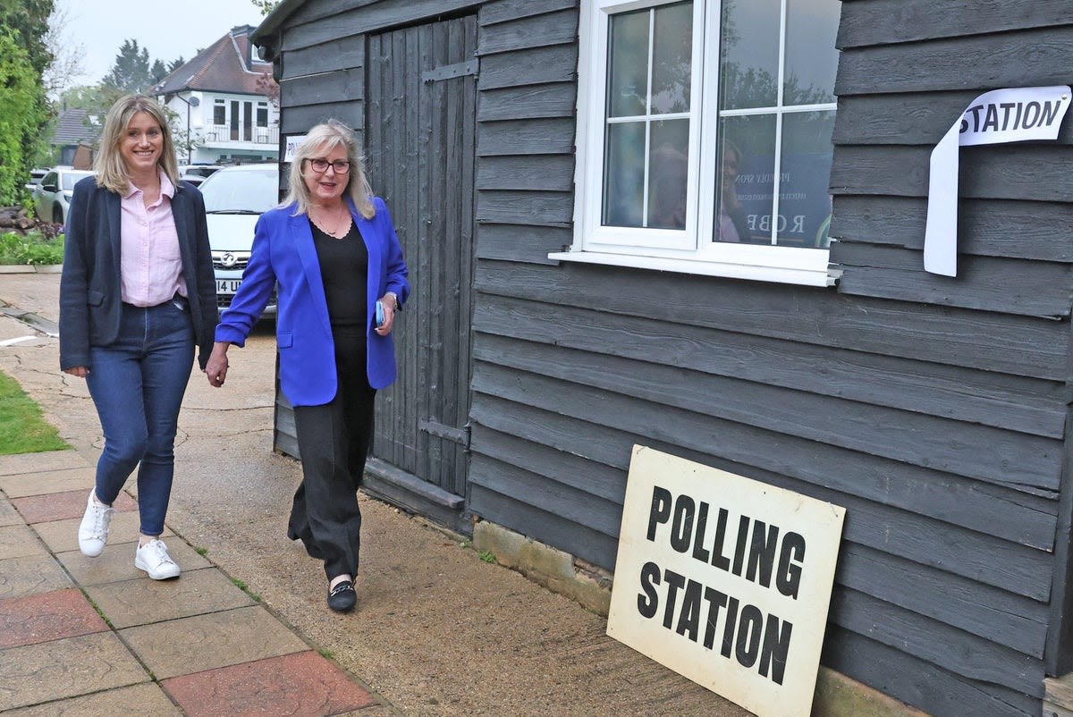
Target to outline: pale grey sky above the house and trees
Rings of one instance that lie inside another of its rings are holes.
[[[71,86],[94,85],[108,74],[124,40],[149,50],[149,63],[190,60],[238,25],[256,27],[264,19],[250,0],[56,0],[65,11],[60,39],[80,46],[84,75]]]

